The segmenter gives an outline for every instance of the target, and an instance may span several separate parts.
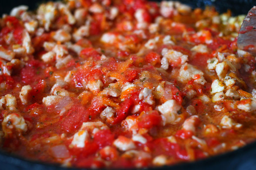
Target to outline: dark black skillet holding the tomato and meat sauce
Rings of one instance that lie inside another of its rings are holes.
[[[4,2],[3,2],[4,1]],[[226,12],[231,9],[233,15],[247,14],[249,9],[256,5],[255,0],[180,0],[192,7],[204,8],[207,5],[215,6],[218,12]],[[11,9],[18,5],[28,5],[30,9],[36,9],[42,0],[2,0],[0,4],[0,14],[9,13]],[[71,168],[59,167],[56,164],[30,161],[25,158],[10,155],[0,151],[0,170],[69,170]],[[74,169],[74,168],[72,168]],[[238,150],[213,156],[195,162],[180,163],[173,166],[161,168],[148,168],[154,170],[200,170],[200,169],[233,169],[252,170],[256,169],[256,142],[251,143]],[[109,169],[110,170],[110,169]],[[111,169],[113,170],[113,169]],[[120,170],[120,169],[119,169]]]

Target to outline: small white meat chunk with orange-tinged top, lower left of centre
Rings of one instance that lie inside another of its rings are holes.
[[[73,140],[71,142],[71,146],[75,146],[78,148],[85,147],[85,141],[89,138],[89,134],[85,130],[80,130],[74,134]]]

